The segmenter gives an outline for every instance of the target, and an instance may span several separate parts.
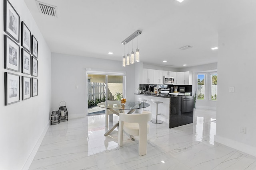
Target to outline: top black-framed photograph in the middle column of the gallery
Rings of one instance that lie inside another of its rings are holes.
[[[31,32],[28,29],[27,25],[22,21],[21,22],[21,45],[24,49],[30,52],[30,44],[31,44]]]

